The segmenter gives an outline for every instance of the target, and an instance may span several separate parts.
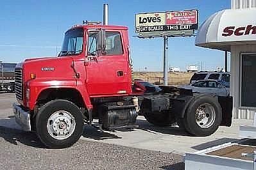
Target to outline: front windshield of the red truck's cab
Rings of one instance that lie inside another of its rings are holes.
[[[59,56],[81,54],[83,51],[83,29],[74,29],[65,33],[62,51]]]

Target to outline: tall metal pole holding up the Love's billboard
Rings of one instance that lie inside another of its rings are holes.
[[[164,36],[164,86],[168,86],[168,36]]]

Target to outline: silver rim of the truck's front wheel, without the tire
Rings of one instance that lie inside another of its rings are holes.
[[[67,139],[74,133],[75,127],[76,121],[67,111],[56,111],[47,120],[47,131],[54,139]]]

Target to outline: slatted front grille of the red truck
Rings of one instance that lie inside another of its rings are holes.
[[[15,95],[19,100],[23,97],[23,87],[22,87],[22,69],[15,68]]]

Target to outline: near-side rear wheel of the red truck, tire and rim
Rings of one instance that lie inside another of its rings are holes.
[[[187,108],[183,125],[192,135],[207,136],[216,132],[221,119],[222,112],[218,100],[209,96],[201,96]]]

